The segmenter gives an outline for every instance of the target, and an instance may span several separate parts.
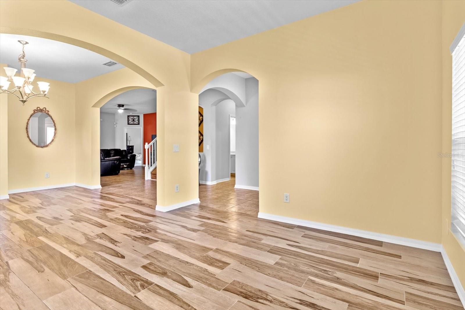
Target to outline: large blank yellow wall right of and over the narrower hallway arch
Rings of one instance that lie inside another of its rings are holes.
[[[259,80],[260,212],[441,242],[441,19],[361,1],[192,55],[194,91]]]

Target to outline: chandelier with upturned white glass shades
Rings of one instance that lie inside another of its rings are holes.
[[[34,70],[26,68],[26,53],[24,53],[24,46],[29,44],[26,41],[18,40],[20,44],[23,46],[23,53],[20,54],[18,57],[18,62],[21,64],[21,72],[20,76],[15,76],[16,69],[4,67],[5,73],[7,73],[7,77],[0,76],[0,92],[1,93],[10,93],[18,97],[20,101],[24,104],[27,100],[33,97],[45,97],[48,98],[47,92],[50,89],[50,83],[47,82],[37,82],[37,86],[39,86],[39,92],[33,91],[32,82],[35,78]],[[13,82],[14,88],[8,89],[10,83]]]

